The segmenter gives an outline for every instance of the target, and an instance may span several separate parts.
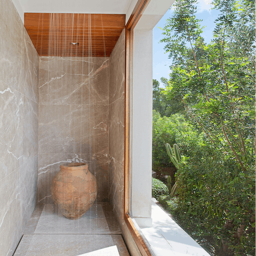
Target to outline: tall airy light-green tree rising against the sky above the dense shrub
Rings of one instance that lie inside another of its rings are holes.
[[[173,58],[165,95],[183,101],[210,141],[245,171],[255,156],[255,17],[249,20],[244,6],[239,12],[234,0],[215,1],[222,15],[206,45],[195,2],[178,0],[164,28],[162,42]]]

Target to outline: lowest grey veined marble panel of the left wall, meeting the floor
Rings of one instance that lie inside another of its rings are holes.
[[[13,255],[35,209],[37,156],[0,181],[1,255]]]

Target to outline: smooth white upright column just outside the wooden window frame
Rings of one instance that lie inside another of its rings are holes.
[[[153,30],[134,29],[131,86],[131,215],[150,227],[152,172]]]

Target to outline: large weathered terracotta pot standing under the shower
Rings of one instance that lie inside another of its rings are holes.
[[[97,181],[85,163],[62,164],[52,180],[51,193],[62,214],[76,220],[93,205],[97,197]]]

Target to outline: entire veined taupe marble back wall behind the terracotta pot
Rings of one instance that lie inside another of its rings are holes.
[[[41,57],[37,201],[65,162],[88,162],[108,200],[109,58]]]

